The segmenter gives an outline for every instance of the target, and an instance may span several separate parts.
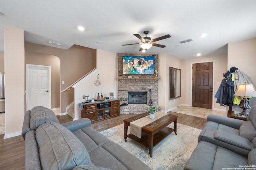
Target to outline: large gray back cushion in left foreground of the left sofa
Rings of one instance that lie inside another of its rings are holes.
[[[49,121],[36,129],[42,169],[72,169],[93,165],[82,142],[64,126]]]

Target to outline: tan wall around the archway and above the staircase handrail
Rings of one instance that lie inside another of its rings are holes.
[[[73,45],[68,50],[38,45],[34,43],[25,43],[27,53],[44,53],[55,55],[60,59],[60,90],[82,78],[85,74],[96,68],[96,50]],[[61,113],[66,113],[66,107],[74,101],[73,89],[60,93]]]

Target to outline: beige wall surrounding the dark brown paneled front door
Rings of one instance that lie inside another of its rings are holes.
[[[181,71],[181,95],[186,96],[182,98],[182,104],[191,106],[192,104],[192,63],[203,63],[213,61],[214,62],[214,78],[213,78],[213,96],[215,96],[218,88],[218,82],[221,82],[224,78],[222,76],[223,72],[227,70],[228,56],[219,55],[211,57],[200,57],[196,59],[183,60],[182,61],[182,71]],[[224,106],[216,103],[216,98],[214,98],[213,109],[226,110]]]

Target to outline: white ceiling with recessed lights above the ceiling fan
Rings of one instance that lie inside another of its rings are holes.
[[[152,39],[170,34],[156,42],[165,48],[146,53],[180,59],[227,54],[228,43],[256,38],[256,0],[0,0],[0,13],[0,52],[4,25],[23,29],[27,42],[113,53],[142,53],[140,45],[122,46],[140,43],[133,34],[144,37],[148,30]],[[85,30],[78,31],[79,25]],[[190,38],[194,41],[179,43]]]

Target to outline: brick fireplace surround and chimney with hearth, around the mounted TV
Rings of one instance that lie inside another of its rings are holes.
[[[146,104],[128,104],[128,106],[120,107],[120,114],[141,114],[148,111],[150,104],[150,89],[152,89],[152,104],[158,105],[158,76],[146,74],[124,75],[122,73],[122,57],[123,56],[154,56],[154,69],[158,72],[158,54],[118,54],[118,92],[117,98],[123,103],[128,103],[128,92],[147,92]]]

